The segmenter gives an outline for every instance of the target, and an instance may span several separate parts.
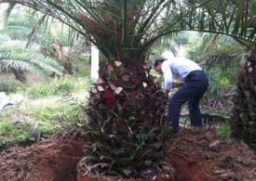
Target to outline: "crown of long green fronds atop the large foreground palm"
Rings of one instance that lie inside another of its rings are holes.
[[[87,37],[108,59],[144,59],[150,45],[173,32],[227,34],[255,43],[255,1],[3,0],[44,12]],[[128,27],[128,30],[125,28]],[[249,46],[249,45],[247,45]]]

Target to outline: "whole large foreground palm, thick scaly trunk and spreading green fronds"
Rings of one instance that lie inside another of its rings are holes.
[[[255,3],[234,0],[2,0],[42,11],[74,28],[107,61],[89,97],[85,172],[140,175],[162,168],[168,130],[164,96],[148,74],[147,52],[181,31],[227,34],[255,43]]]

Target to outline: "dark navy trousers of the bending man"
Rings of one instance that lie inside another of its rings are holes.
[[[173,132],[179,131],[179,120],[182,105],[188,102],[190,122],[193,126],[202,126],[199,101],[207,91],[209,79],[204,71],[191,71],[184,80],[183,86],[169,99],[168,120]]]

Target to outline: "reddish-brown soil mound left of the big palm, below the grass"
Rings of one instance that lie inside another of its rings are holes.
[[[83,156],[81,133],[53,136],[26,148],[0,153],[1,181],[74,181],[76,164]]]

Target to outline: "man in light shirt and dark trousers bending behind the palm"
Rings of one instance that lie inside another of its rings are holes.
[[[208,89],[209,79],[199,65],[187,58],[157,59],[154,69],[164,75],[165,93],[171,88],[182,86],[168,103],[168,119],[166,125],[173,126],[173,133],[179,132],[179,120],[182,105],[188,102],[190,122],[193,126],[202,126],[199,101]],[[182,83],[174,83],[173,78]]]

